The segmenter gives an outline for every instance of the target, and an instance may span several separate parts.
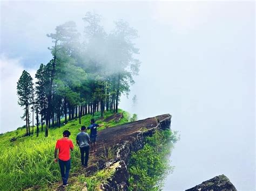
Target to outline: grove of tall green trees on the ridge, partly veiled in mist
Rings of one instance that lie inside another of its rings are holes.
[[[51,126],[60,126],[62,117],[67,123],[82,115],[93,116],[96,111],[102,116],[104,110],[117,112],[120,96],[129,95],[133,76],[139,72],[140,61],[136,58],[139,49],[133,41],[138,38],[137,30],[118,20],[107,33],[97,13],[87,12],[82,19],[83,35],[73,21],[46,35],[52,39],[49,47],[52,59],[37,70],[34,101],[42,131],[43,123],[46,125],[45,136]],[[32,104],[33,84],[29,76],[24,71],[17,86],[19,104],[25,108]],[[22,89],[24,84],[26,90]]]

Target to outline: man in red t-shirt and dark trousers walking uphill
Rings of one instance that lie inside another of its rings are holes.
[[[60,174],[62,174],[63,181],[62,187],[68,186],[69,170],[71,167],[70,150],[73,151],[74,149],[73,142],[69,139],[70,135],[71,133],[68,130],[63,132],[63,138],[57,140],[54,152],[54,161],[57,163],[59,160]],[[59,154],[57,159],[58,151]]]

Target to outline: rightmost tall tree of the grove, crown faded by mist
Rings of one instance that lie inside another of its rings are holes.
[[[115,111],[118,111],[119,98],[122,93],[129,95],[130,85],[134,83],[133,76],[138,75],[140,61],[134,58],[139,54],[133,39],[138,38],[137,30],[130,27],[129,23],[119,20],[115,29],[108,37],[109,68],[113,73],[115,83]]]

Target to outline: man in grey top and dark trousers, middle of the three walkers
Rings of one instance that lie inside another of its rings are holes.
[[[88,133],[85,132],[86,131],[85,126],[82,126],[80,131],[81,132],[77,134],[76,140],[80,148],[82,166],[87,167],[88,158],[89,158],[90,137]]]

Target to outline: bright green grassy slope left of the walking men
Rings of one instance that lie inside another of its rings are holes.
[[[105,126],[114,126],[128,122],[129,114],[123,112],[124,118],[118,123],[103,123],[104,126],[98,130],[105,129]],[[99,112],[96,113],[95,119],[99,118]],[[112,112],[105,112],[104,118],[113,115]],[[88,126],[92,116],[82,117],[82,125]],[[98,121],[101,124],[102,122]],[[62,137],[64,130],[71,132],[70,139],[75,144],[76,135],[79,132],[79,120],[70,121],[60,128],[49,129],[49,137],[45,138],[44,133],[40,132],[39,137],[32,135],[30,137],[18,138],[15,142],[10,142],[12,137],[22,136],[25,129],[16,130],[0,136],[0,188],[3,190],[15,190],[29,188],[38,185],[45,188],[52,185],[53,182],[60,181],[59,167],[53,162],[53,150],[56,140]],[[35,130],[35,129],[34,129]],[[40,129],[41,130],[41,129]],[[72,169],[71,175],[79,171],[79,149],[71,153]]]

